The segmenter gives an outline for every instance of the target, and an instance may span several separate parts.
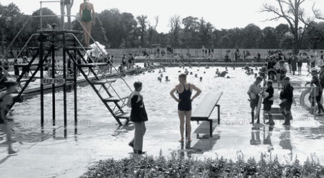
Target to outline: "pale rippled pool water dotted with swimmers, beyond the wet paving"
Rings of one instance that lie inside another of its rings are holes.
[[[245,75],[243,70],[236,68],[233,70],[229,68],[230,79],[223,77],[215,77],[215,68],[188,68],[193,75],[188,75],[188,82],[194,83],[203,92],[197,97],[193,103],[193,109],[203,99],[204,95],[211,90],[223,91],[223,97],[219,103],[221,103],[221,119],[243,119],[250,117],[249,102],[247,101],[247,90],[251,83],[254,82],[254,76]],[[220,71],[225,70],[219,68]],[[134,75],[125,77],[125,81],[132,87],[132,83],[135,81],[141,81],[143,83],[142,94],[145,101],[145,107],[148,112],[150,121],[161,123],[174,123],[177,124],[177,103],[170,97],[170,90],[179,83],[178,75],[180,72],[184,72],[183,68],[167,68],[166,72],[159,73],[159,70],[144,75]],[[158,81],[158,77],[163,75],[162,81]],[[198,77],[194,77],[198,75]],[[168,76],[170,81],[165,81],[165,76]],[[203,77],[202,81],[199,81],[199,77]],[[113,87],[121,94],[128,93],[128,88],[119,88],[122,85],[121,80],[117,80],[113,84]],[[56,93],[56,114],[57,120],[63,119],[63,92]],[[50,120],[52,117],[52,95],[48,94],[44,97],[45,100],[45,117]],[[34,97],[23,103],[17,103],[14,106],[15,115],[17,120],[39,120],[40,114],[40,97]],[[47,108],[47,109],[46,109]],[[90,86],[78,88],[78,119],[90,120],[90,121],[103,121],[105,123],[115,124],[116,121],[112,118],[108,110],[103,106],[97,94],[92,90]],[[73,92],[68,93],[68,119],[73,121],[74,119],[74,106],[73,106]],[[216,115],[214,115],[216,117]],[[215,118],[216,119],[216,118]],[[48,122],[47,122],[48,123]],[[150,122],[148,122],[150,124]],[[50,125],[50,124],[48,124]],[[168,126],[166,126],[168,127]],[[168,130],[168,128],[165,128]]]

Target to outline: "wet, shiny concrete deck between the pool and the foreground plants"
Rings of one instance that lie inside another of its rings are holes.
[[[303,73],[307,73],[303,70]],[[303,86],[310,77],[289,75],[296,85]],[[278,93],[276,93],[277,95]],[[223,101],[224,102],[224,101]],[[222,104],[222,101],[221,101]],[[276,103],[277,104],[277,103]],[[276,104],[274,107],[276,108]],[[222,110],[222,108],[221,108]],[[250,112],[249,110],[246,111]],[[276,120],[274,128],[269,126],[252,129],[250,117],[232,118],[236,112],[223,113],[226,119],[221,119],[221,125],[216,126],[213,137],[197,139],[192,133],[192,143],[179,144],[178,124],[176,115],[170,116],[169,123],[163,127],[160,122],[149,119],[148,131],[144,137],[144,150],[148,155],[170,156],[170,152],[178,152],[183,157],[217,157],[235,159],[238,151],[245,158],[260,157],[261,152],[278,155],[280,161],[293,161],[296,156],[301,161],[315,153],[323,163],[324,155],[321,145],[324,144],[324,126],[321,118],[303,110],[298,104],[292,107],[292,126],[281,126],[282,120]],[[19,115],[19,113],[17,113]],[[82,113],[81,113],[82,114]],[[88,117],[94,117],[89,113]],[[168,113],[161,113],[168,115]],[[212,115],[213,118],[214,114]],[[133,126],[117,126],[107,122],[107,118],[96,121],[80,120],[78,126],[73,121],[68,128],[57,121],[57,126],[41,131],[37,125],[38,118],[28,121],[19,120],[14,127],[14,149],[17,155],[6,152],[5,135],[1,133],[0,170],[6,177],[79,177],[94,161],[100,159],[121,159],[129,157],[132,149],[128,141],[134,135]],[[30,126],[28,125],[30,124]],[[199,126],[192,122],[192,131]],[[206,133],[209,130],[205,130]],[[65,138],[66,135],[66,138]]]

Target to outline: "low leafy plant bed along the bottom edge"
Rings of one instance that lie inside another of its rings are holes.
[[[121,160],[101,160],[94,163],[81,177],[324,177],[324,167],[312,156],[304,164],[298,159],[281,164],[278,158],[261,154],[245,161],[238,152],[237,161],[224,159],[185,159],[171,157],[133,156]]]

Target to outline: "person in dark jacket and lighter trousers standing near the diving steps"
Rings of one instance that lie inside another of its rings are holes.
[[[132,108],[130,111],[130,121],[134,123],[135,132],[134,139],[128,145],[134,149],[134,153],[143,154],[143,137],[146,131],[145,121],[148,121],[148,114],[143,103],[143,96],[140,93],[142,83],[136,81],[134,88],[134,92],[128,98],[127,106]]]

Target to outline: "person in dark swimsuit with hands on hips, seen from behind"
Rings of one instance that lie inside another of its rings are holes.
[[[190,98],[192,95],[192,90],[196,90],[194,97]],[[179,99],[174,96],[174,92],[179,93]],[[180,119],[180,134],[181,139],[179,142],[183,143],[184,137],[184,124],[187,126],[188,142],[191,139],[191,114],[192,114],[192,101],[201,94],[201,90],[192,83],[187,83],[187,75],[179,75],[179,84],[176,85],[171,91],[171,97],[178,102],[178,115]]]

